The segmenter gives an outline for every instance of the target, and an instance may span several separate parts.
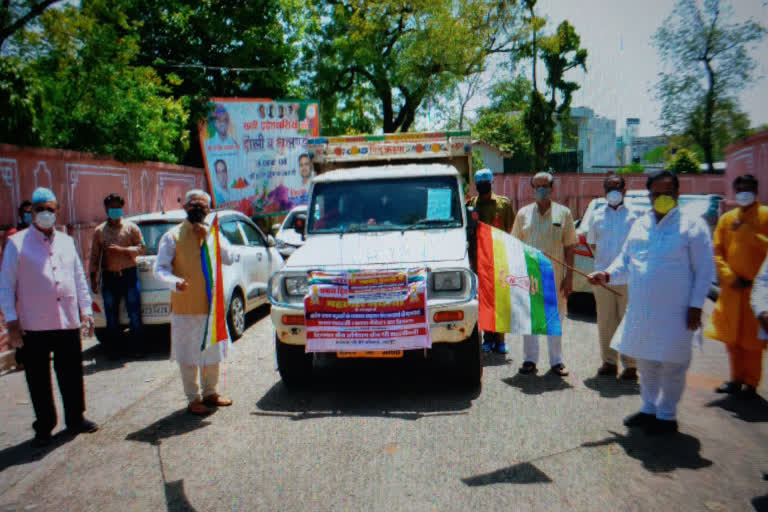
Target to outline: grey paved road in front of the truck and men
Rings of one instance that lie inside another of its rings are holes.
[[[260,315],[226,367],[235,405],[205,419],[184,414],[161,353],[110,366],[89,348],[89,415],[102,430],[35,451],[23,377],[0,377],[0,511],[768,507],[768,403],[712,393],[727,375],[719,343],[695,355],[681,434],[659,441],[621,425],[636,386],[593,377],[589,318],[565,322],[564,380],[517,375],[510,336],[509,356],[486,358],[482,391],[452,387],[439,366],[364,361],[325,365],[293,393]]]

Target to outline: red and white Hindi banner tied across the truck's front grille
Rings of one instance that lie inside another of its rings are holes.
[[[307,352],[429,348],[426,269],[312,272]]]

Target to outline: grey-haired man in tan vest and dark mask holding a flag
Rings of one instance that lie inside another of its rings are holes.
[[[184,393],[192,414],[206,415],[212,408],[232,405],[232,400],[216,391],[219,363],[224,360],[229,340],[200,350],[208,317],[200,247],[208,236],[204,220],[211,207],[211,196],[202,190],[190,190],[184,200],[187,219],[170,229],[160,239],[155,262],[155,276],[171,288],[171,360],[179,363]],[[231,265],[233,255],[227,240],[221,242],[221,259]],[[200,374],[202,399],[197,375]]]

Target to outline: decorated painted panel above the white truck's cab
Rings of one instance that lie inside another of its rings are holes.
[[[470,154],[472,139],[468,131],[322,137],[309,140],[309,151],[318,164],[441,158]]]

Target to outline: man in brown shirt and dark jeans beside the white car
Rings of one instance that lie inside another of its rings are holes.
[[[118,355],[120,340],[120,300],[125,301],[133,340],[141,340],[141,294],[136,259],[144,254],[144,238],[139,227],[123,219],[125,201],[117,194],[104,199],[107,221],[96,227],[91,245],[90,273],[93,293],[104,301],[107,321],[106,348],[111,356]],[[101,279],[99,279],[101,278]],[[135,348],[135,347],[134,347]]]

